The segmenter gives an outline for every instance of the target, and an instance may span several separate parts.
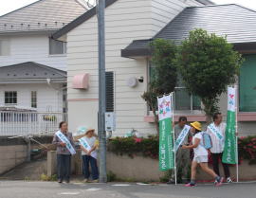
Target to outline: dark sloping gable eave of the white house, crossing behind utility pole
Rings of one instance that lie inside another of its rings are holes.
[[[118,0],[105,0],[105,8],[109,7],[110,5],[114,4]],[[92,18],[96,15],[96,7],[93,9],[89,9],[85,13],[83,13],[81,16],[76,18],[74,21],[70,22],[65,27],[61,28],[59,31],[52,34],[53,39],[59,39],[60,37],[64,36],[67,32],[72,30],[75,27],[80,26],[83,22],[87,21],[88,19]]]

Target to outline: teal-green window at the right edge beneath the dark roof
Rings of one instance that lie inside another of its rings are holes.
[[[245,55],[239,78],[239,111],[256,112],[256,55]]]

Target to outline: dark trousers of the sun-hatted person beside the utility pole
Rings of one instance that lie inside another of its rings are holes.
[[[92,178],[93,180],[99,179],[99,171],[97,166],[97,160],[90,155],[82,155],[84,178],[90,177],[89,164],[91,164]]]

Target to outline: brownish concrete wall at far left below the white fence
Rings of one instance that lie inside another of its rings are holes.
[[[0,138],[0,174],[9,171],[27,160],[27,145],[22,140]]]

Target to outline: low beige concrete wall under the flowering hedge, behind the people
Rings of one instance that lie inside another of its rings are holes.
[[[135,156],[134,158],[128,155],[117,155],[115,153],[107,153],[107,172],[112,171],[119,179],[134,180],[134,181],[159,181],[159,178],[164,175],[164,172],[158,171],[158,160],[143,156]],[[82,161],[80,153],[73,157],[72,170],[76,174],[82,174]],[[48,153],[48,169],[47,174],[56,173],[56,153]],[[210,166],[212,169],[212,167]],[[244,160],[239,166],[240,180],[255,180],[256,165],[248,165]],[[221,175],[223,174],[222,166],[220,165]],[[231,177],[236,178],[235,166],[230,167]],[[208,174],[198,169],[196,179],[199,181],[212,180]]]

